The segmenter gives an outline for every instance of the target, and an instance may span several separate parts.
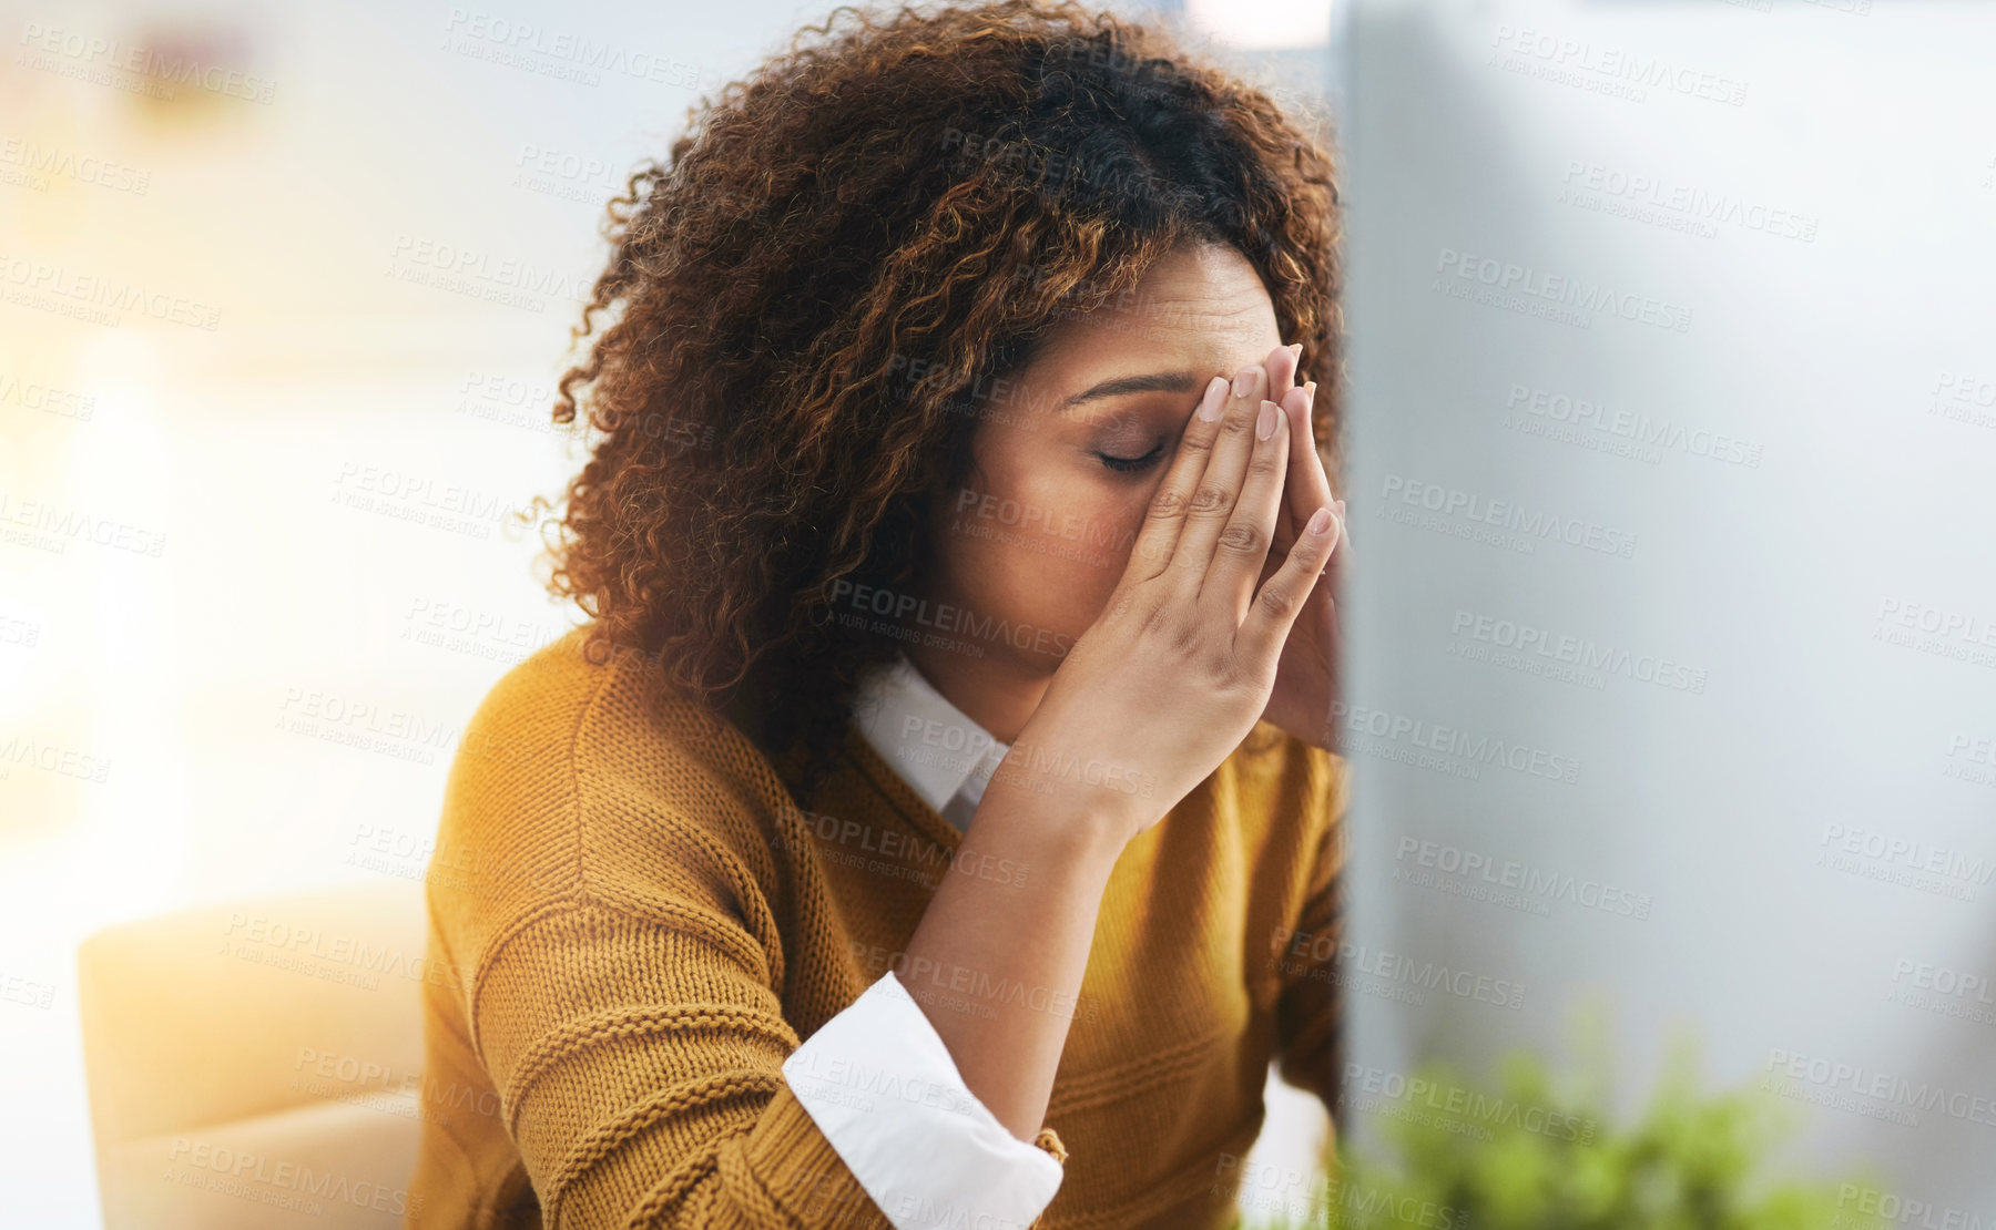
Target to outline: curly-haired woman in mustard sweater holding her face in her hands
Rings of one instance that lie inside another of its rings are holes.
[[[1108,16],[842,20],[611,207],[411,1226],[1224,1226],[1333,1098],[1329,161]]]

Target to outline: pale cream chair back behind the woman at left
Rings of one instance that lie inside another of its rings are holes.
[[[421,881],[110,927],[78,949],[108,1230],[393,1230],[415,1168]]]

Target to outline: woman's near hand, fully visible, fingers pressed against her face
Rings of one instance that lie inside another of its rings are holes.
[[[1297,421],[1267,389],[1263,365],[1208,385],[1122,580],[1060,664],[992,789],[1058,797],[1128,841],[1267,712],[1283,644],[1337,542],[1323,500],[1301,516],[1287,558],[1265,568],[1283,486],[1295,484]],[[1321,474],[1307,435],[1301,447]],[[1297,708],[1309,704],[1303,696]]]

